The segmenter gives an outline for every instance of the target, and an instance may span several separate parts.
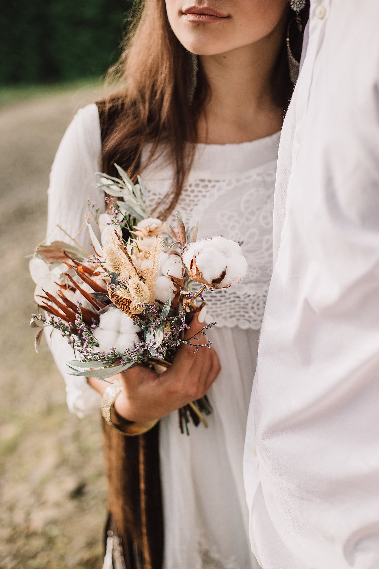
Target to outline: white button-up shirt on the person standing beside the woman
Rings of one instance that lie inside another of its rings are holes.
[[[379,0],[311,1],[244,477],[264,569],[379,569]]]

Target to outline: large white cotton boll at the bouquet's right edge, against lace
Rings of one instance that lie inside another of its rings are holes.
[[[240,246],[225,237],[191,243],[182,250],[190,277],[207,288],[228,288],[242,281],[248,265]]]

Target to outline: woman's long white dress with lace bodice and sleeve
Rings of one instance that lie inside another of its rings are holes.
[[[160,457],[164,502],[163,569],[255,569],[248,533],[242,459],[258,337],[272,267],[273,193],[279,133],[235,145],[198,145],[178,201],[185,224],[200,223],[199,237],[222,235],[240,242],[249,265],[243,284],[206,294],[209,332],[222,370],[209,390],[209,428],[191,425],[182,435],[177,412],[161,419]],[[57,152],[49,187],[48,234],[76,235],[95,189],[101,134],[97,107],[82,109]],[[142,172],[154,205],[169,190],[172,171],[155,163]],[[86,232],[78,237],[89,247]],[[83,416],[99,407],[85,379],[69,376],[71,348],[57,332],[51,351],[66,380],[68,406]]]

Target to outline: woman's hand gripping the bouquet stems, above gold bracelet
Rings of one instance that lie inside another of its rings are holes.
[[[202,328],[203,324],[194,316],[185,338],[197,335]],[[199,341],[192,338],[191,344],[202,344],[203,336],[199,338]],[[218,376],[220,363],[213,348],[195,352],[193,345],[181,345],[173,364],[164,373],[138,365],[115,376],[123,383],[115,411],[124,419],[145,423],[203,397]],[[88,382],[100,393],[106,389],[103,381],[88,378]]]

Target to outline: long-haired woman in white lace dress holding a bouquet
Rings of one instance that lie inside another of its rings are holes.
[[[293,0],[295,9],[303,3]],[[288,0],[145,0],[116,69],[126,88],[82,109],[57,152],[51,240],[67,239],[57,224],[80,232],[87,200],[102,201],[94,172],[116,175],[118,163],[131,176],[141,174],[160,216],[172,223],[178,209],[186,225],[200,222],[199,237],[239,241],[249,264],[245,283],[209,298],[207,318],[217,323],[211,351],[181,347],[162,376],[134,368],[121,378],[120,428],[160,422],[136,437],[105,423],[105,566],[113,558],[114,567],[143,569],[257,567],[242,456],[270,279],[278,141],[293,87],[291,57],[298,59],[302,39],[295,30],[288,63],[286,30],[294,17]],[[77,239],[89,248],[84,234]],[[69,376],[70,348],[56,332],[50,341],[70,409],[83,415],[98,408],[106,384]],[[209,428],[181,435],[174,410],[206,392],[214,409]]]

